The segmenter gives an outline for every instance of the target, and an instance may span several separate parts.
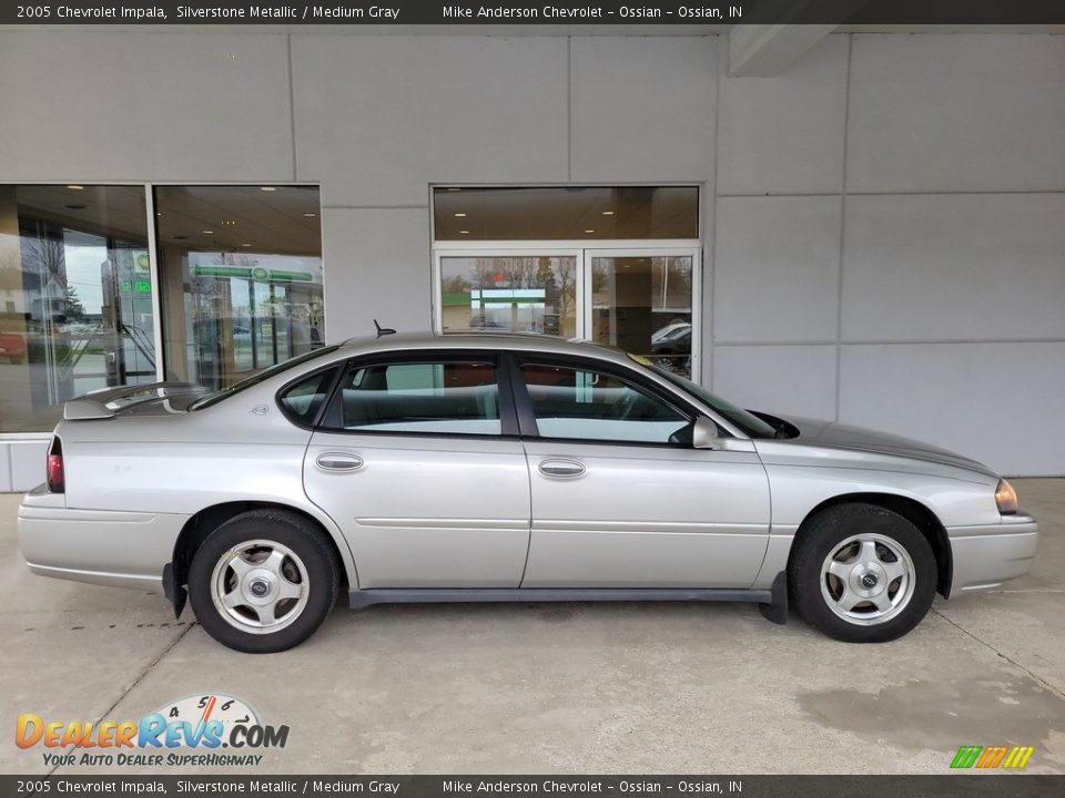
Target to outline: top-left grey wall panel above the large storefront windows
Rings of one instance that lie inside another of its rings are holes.
[[[0,32],[0,174],[293,178],[284,35]]]

